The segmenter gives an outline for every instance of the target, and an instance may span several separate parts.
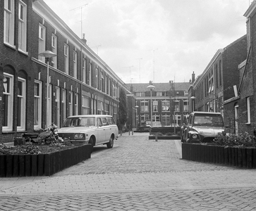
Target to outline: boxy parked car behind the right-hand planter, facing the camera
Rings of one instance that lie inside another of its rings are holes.
[[[193,112],[185,118],[181,127],[181,141],[188,143],[212,142],[224,132],[221,113]]]

